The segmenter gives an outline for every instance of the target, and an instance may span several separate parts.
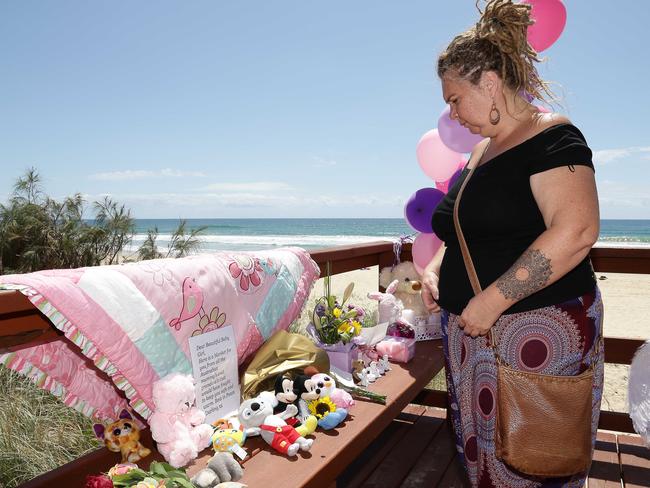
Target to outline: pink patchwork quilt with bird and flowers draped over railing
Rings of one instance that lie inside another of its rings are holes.
[[[291,324],[318,277],[299,248],[0,276],[0,288],[25,294],[68,339],[0,364],[100,420],[127,406],[116,386],[146,419],[153,383],[191,374],[189,337],[232,326],[241,364]]]

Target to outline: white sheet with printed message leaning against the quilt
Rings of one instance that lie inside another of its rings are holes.
[[[232,327],[190,337],[196,405],[212,423],[239,407],[237,344]]]

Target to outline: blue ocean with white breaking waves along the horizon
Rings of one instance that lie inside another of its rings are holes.
[[[158,228],[158,246],[165,249],[177,219],[136,219],[136,233],[125,249],[135,251],[148,229]],[[201,252],[256,251],[282,246],[319,249],[415,236],[404,219],[187,219],[190,228],[207,227]],[[598,245],[650,247],[650,220],[601,220]]]

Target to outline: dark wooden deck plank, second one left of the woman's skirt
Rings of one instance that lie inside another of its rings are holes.
[[[443,423],[443,419],[424,413],[361,486],[364,488],[401,487],[403,480],[421,459]]]

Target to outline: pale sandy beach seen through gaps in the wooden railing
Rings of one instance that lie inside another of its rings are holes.
[[[376,310],[376,302],[366,294],[378,287],[378,267],[350,271],[332,276],[332,293],[338,296],[350,283],[355,284],[352,302],[367,310]],[[605,305],[604,332],[606,337],[650,339],[650,275],[597,273]],[[323,279],[314,286],[299,323],[308,316],[317,297],[323,295]],[[627,379],[629,366],[606,365],[603,410],[627,411]]]

